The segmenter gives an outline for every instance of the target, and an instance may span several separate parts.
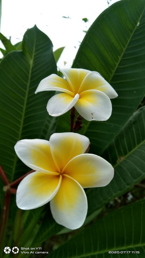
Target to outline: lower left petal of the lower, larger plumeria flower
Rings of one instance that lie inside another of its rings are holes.
[[[61,175],[47,175],[33,172],[20,182],[16,203],[22,210],[31,210],[48,203],[58,192]]]

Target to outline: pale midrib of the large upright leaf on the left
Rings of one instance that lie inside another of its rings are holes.
[[[26,105],[27,105],[27,99],[28,99],[28,93],[29,93],[29,87],[30,87],[30,82],[31,82],[32,67],[33,67],[34,54],[35,54],[35,46],[36,46],[36,33],[35,33],[35,35],[34,35],[34,47],[33,47],[33,53],[32,53],[32,60],[29,60],[29,61],[30,61],[29,77],[28,77],[28,84],[27,84],[26,97],[25,97],[25,101],[24,101],[22,119],[21,119],[21,124],[20,124],[20,131],[19,131],[19,135],[18,135],[18,141],[21,139],[22,128],[23,128],[23,124],[24,124],[24,115],[25,115],[25,110],[26,110]],[[14,164],[13,164],[13,170],[12,170],[12,178],[11,178],[12,180],[13,180],[13,176],[14,176],[14,173],[15,173],[15,168],[16,168],[17,159],[18,159],[18,157],[17,157],[17,155],[15,154]]]

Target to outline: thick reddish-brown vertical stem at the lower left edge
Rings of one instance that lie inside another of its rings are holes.
[[[11,199],[11,194],[9,192],[6,192],[5,199],[4,199],[4,206],[2,210],[1,224],[0,224],[0,246],[3,243],[4,236],[5,236],[6,224],[7,224],[8,215],[9,215],[10,199]]]

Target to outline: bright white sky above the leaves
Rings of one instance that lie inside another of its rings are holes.
[[[112,0],[110,5],[117,1]],[[36,24],[49,36],[54,50],[65,46],[58,66],[63,68],[65,61],[65,67],[71,67],[79,42],[85,36],[83,30],[87,30],[107,7],[106,0],[2,0],[1,33],[11,37],[15,44]],[[89,22],[85,23],[82,18]],[[1,43],[0,47],[4,48]]]

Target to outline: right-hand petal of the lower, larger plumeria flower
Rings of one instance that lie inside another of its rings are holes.
[[[106,186],[114,175],[112,165],[94,154],[82,154],[74,157],[62,171],[86,187]]]

